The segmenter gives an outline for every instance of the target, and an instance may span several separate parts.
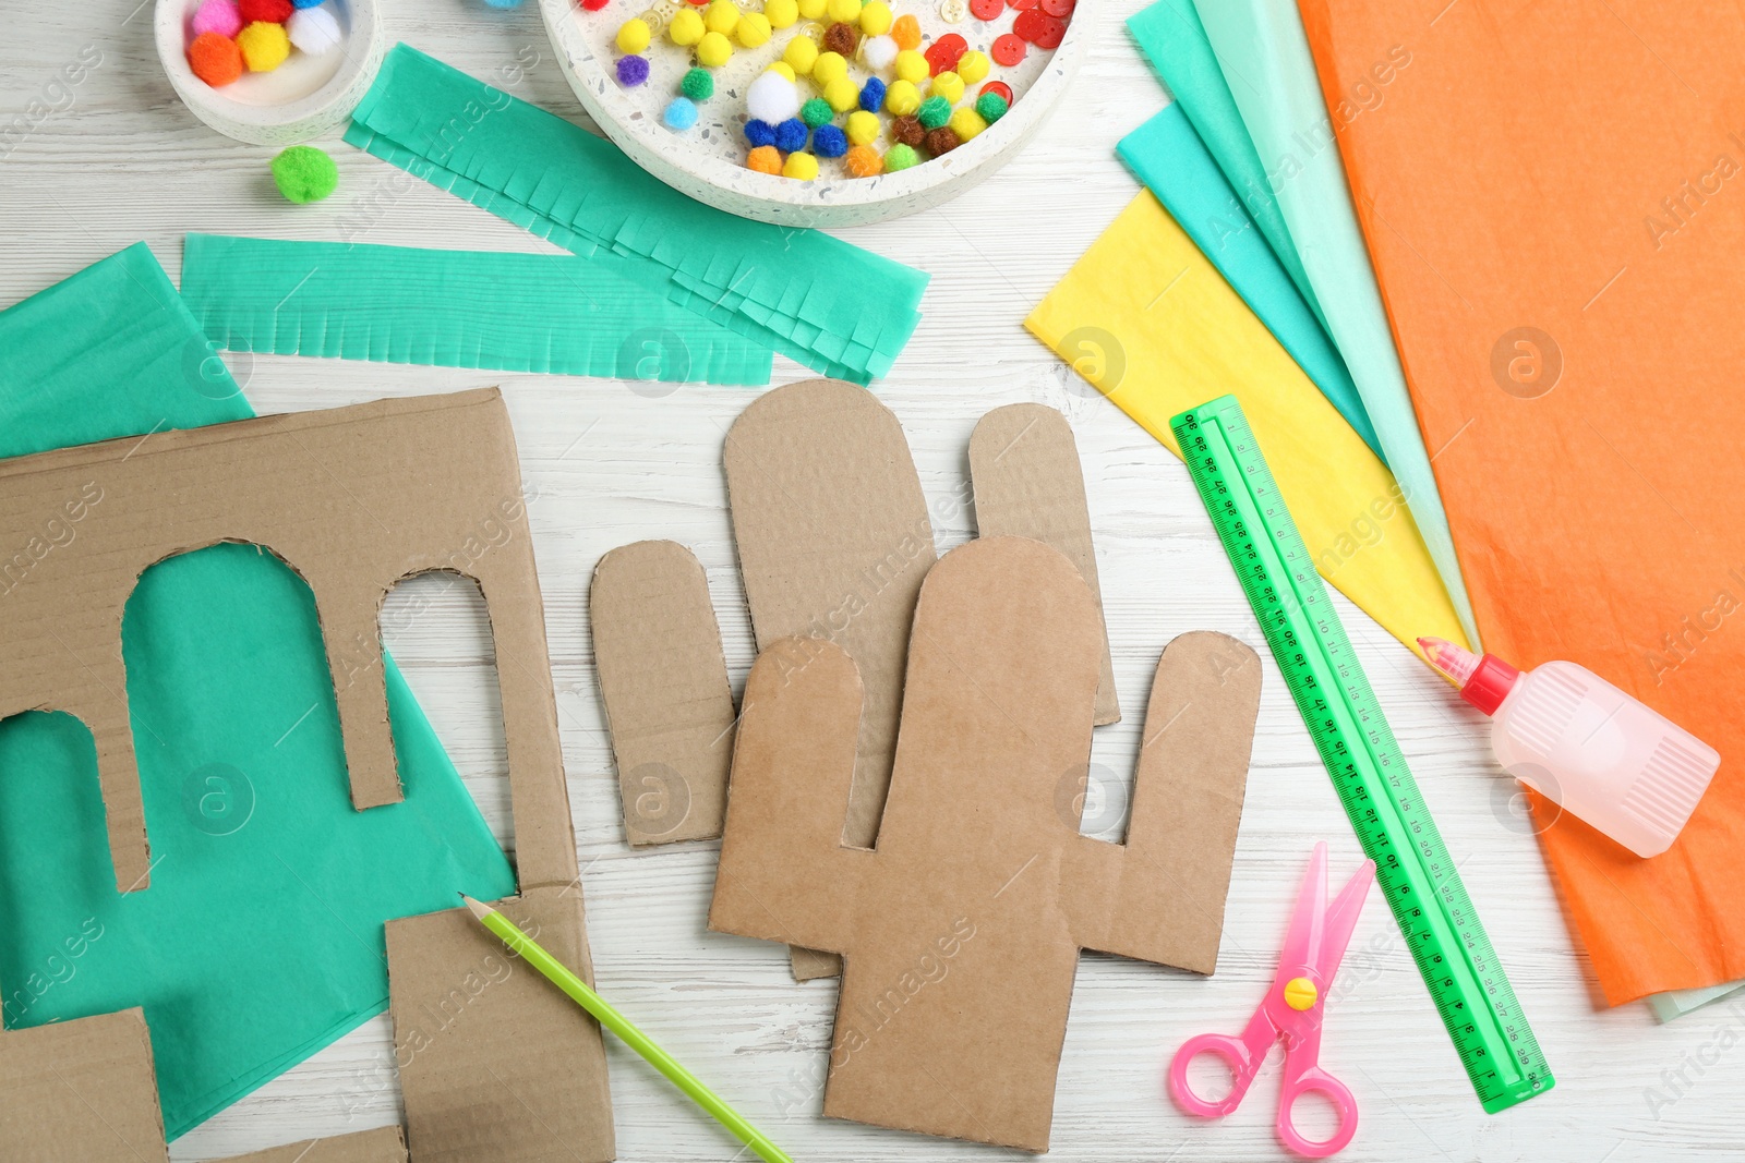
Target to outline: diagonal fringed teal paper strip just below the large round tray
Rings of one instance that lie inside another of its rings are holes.
[[[866,384],[920,323],[927,275],[817,230],[728,214],[579,126],[394,45],[346,141],[806,366]]]

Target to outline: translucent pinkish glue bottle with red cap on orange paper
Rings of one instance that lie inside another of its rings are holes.
[[[1441,638],[1419,647],[1492,717],[1504,771],[1637,856],[1672,846],[1721,765],[1715,748],[1584,666],[1518,671]]]

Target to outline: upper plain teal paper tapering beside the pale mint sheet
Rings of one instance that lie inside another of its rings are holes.
[[[1284,228],[1284,214],[1279,213],[1279,201],[1267,181],[1267,169],[1260,164],[1248,127],[1242,126],[1242,113],[1235,108],[1230,85],[1223,80],[1223,68],[1211,49],[1211,40],[1206,38],[1199,12],[1194,10],[1194,0],[1157,0],[1127,21],[1127,33],[1218,159],[1230,188],[1241,194],[1242,206],[1260,227],[1267,246],[1324,330],[1321,303],[1297,255],[1297,244]]]

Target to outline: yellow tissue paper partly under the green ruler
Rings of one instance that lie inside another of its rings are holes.
[[[1321,577],[1408,649],[1466,642],[1393,474],[1150,190],[1024,326],[1176,455],[1169,417],[1232,392]]]

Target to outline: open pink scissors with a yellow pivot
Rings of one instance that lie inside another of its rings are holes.
[[[1351,1090],[1316,1065],[1321,1051],[1321,1018],[1326,990],[1345,957],[1351,931],[1363,912],[1363,900],[1375,881],[1375,861],[1366,860],[1340,891],[1333,907],[1326,905],[1326,844],[1314,846],[1309,858],[1309,875],[1297,894],[1297,910],[1279,954],[1279,971],[1267,989],[1241,1037],[1228,1034],[1201,1034],[1181,1043],[1169,1062],[1169,1093],[1188,1114],[1223,1118],[1235,1111],[1248,1093],[1249,1083],[1267,1060],[1272,1043],[1284,1039],[1284,1090],[1279,1095],[1279,1139],[1297,1154],[1324,1160],[1351,1142],[1358,1130],[1358,1104]],[[1230,1093],[1220,1102],[1206,1102],[1188,1086],[1188,1062],[1201,1053],[1215,1053],[1230,1065]],[[1333,1100],[1338,1111],[1338,1130],[1324,1142],[1304,1139],[1291,1125],[1291,1104],[1317,1090]]]

